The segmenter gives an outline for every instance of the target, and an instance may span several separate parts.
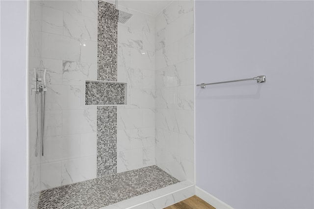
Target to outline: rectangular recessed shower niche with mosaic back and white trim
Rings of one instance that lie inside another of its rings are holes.
[[[85,81],[86,105],[127,104],[127,83],[109,81]]]

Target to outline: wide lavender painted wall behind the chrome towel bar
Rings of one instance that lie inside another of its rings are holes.
[[[196,185],[234,208],[314,208],[313,1],[196,1]]]

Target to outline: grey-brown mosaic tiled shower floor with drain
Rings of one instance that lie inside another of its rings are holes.
[[[179,183],[156,165],[40,192],[38,209],[99,209]]]

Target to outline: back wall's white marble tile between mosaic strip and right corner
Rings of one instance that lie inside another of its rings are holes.
[[[133,14],[118,23],[118,81],[128,105],[117,106],[117,172],[155,165],[155,17]]]

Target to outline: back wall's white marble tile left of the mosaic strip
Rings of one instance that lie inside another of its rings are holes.
[[[85,106],[84,94],[85,79],[97,79],[97,3],[42,2],[48,91],[41,190],[96,178],[97,107]]]

